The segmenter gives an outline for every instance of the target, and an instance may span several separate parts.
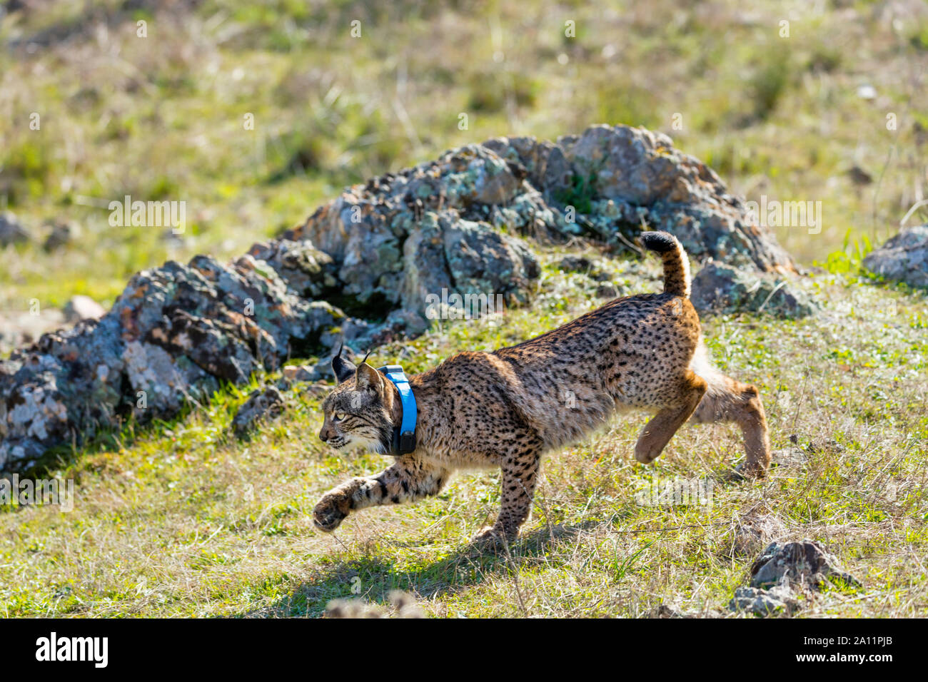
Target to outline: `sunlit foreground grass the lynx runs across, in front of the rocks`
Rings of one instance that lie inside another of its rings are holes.
[[[559,272],[561,251],[542,253],[531,306],[492,327],[436,323],[379,358],[419,371],[599,304],[598,282]],[[655,262],[586,254],[624,292],[657,286]],[[127,425],[65,455],[53,475],[77,481],[72,512],[0,508],[0,614],[315,616],[333,598],[385,604],[393,589],[447,617],[724,611],[770,537],[810,537],[864,586],[827,590],[801,615],[924,615],[928,305],[844,275],[806,285],[823,302],[818,317],[704,320],[719,367],[761,389],[778,451],[764,481],[728,479],[742,455],[740,434],[726,426],[685,428],[654,465],[638,465],[631,449],[645,416],[633,414],[546,459],[509,554],[469,544],[498,508],[492,471],[459,474],[442,495],[367,509],[320,534],[311,519],[319,496],[389,458],[324,448],[315,392],[290,392],[282,418],[237,441],[229,424],[255,378],[181,418]],[[639,504],[645,486],[676,477],[711,480],[712,504]]]

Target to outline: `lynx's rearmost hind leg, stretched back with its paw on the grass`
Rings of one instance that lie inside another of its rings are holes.
[[[698,424],[733,421],[744,436],[747,461],[744,473],[763,476],[770,467],[770,437],[767,416],[755,386],[741,383],[715,370],[707,372],[709,389],[693,413]]]

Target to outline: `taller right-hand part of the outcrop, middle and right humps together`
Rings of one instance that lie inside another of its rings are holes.
[[[498,137],[448,151],[349,187],[287,237],[308,238],[330,253],[348,292],[415,308],[422,290],[483,286],[458,282],[458,269],[486,250],[515,264],[528,258],[500,229],[583,235],[625,248],[644,226],[675,234],[698,261],[794,272],[776,238],[749,223],[741,199],[710,168],[673,148],[666,135],[627,126],[595,125],[556,143]],[[427,272],[410,272],[417,257],[431,265]],[[528,258],[522,269],[534,267]],[[509,294],[505,282],[485,284]]]

